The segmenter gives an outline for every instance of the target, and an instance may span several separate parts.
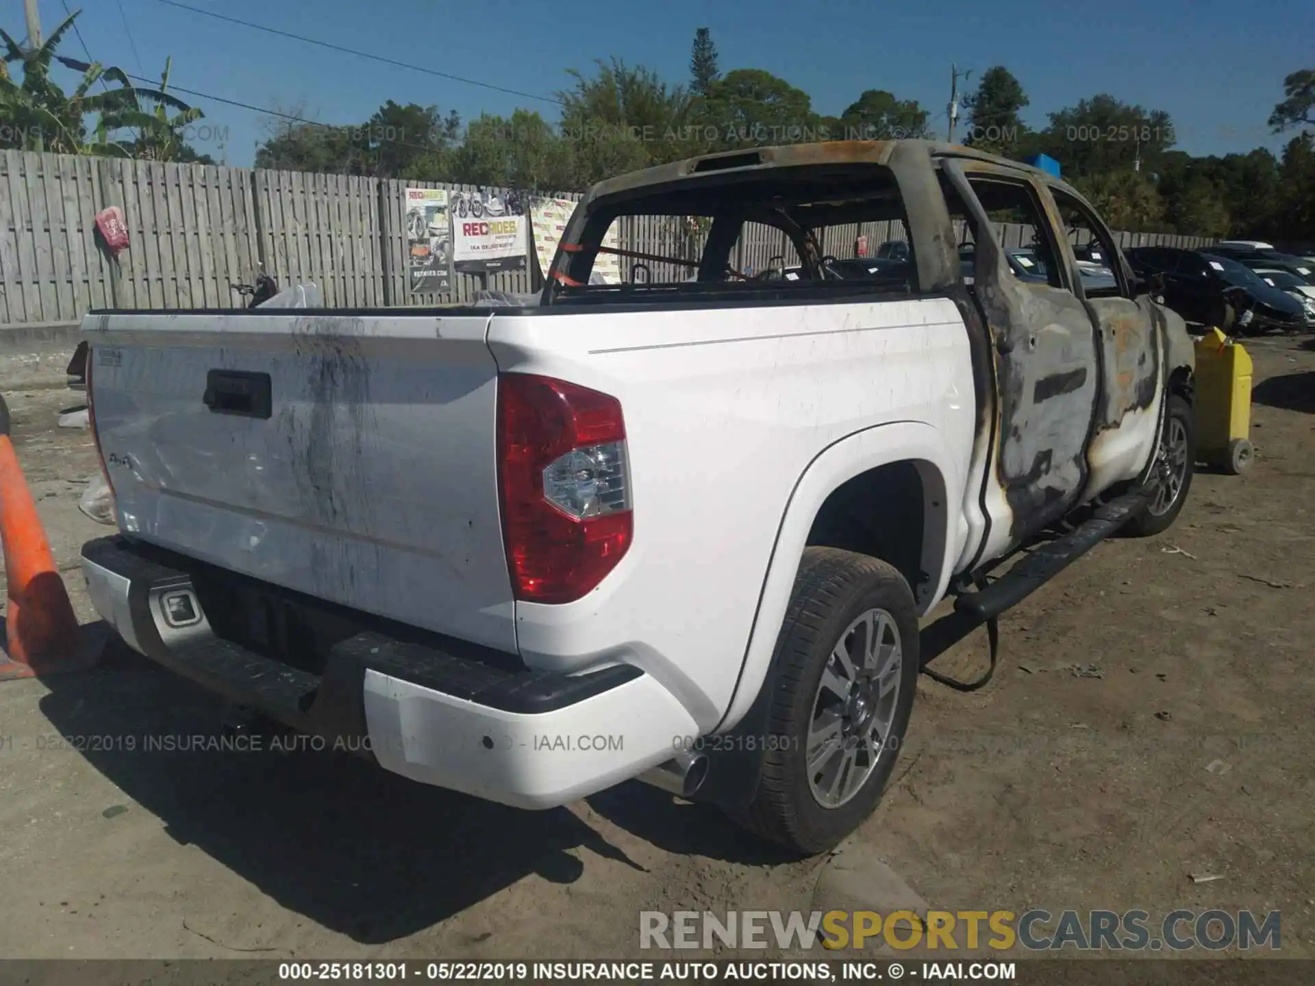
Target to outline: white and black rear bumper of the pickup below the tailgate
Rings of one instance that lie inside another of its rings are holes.
[[[698,734],[667,689],[627,664],[508,669],[508,655],[484,661],[479,648],[375,630],[329,647],[320,673],[274,660],[214,632],[193,584],[200,564],[118,536],[83,547],[91,599],[133,649],[422,784],[548,809],[635,777]]]

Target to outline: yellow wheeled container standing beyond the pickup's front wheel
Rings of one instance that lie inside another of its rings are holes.
[[[1197,339],[1197,458],[1237,475],[1251,465],[1251,356],[1218,329]]]

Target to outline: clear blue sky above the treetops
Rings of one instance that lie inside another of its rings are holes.
[[[1044,125],[1047,112],[1110,92],[1166,110],[1178,147],[1193,154],[1281,147],[1283,138],[1270,135],[1265,120],[1282,97],[1282,79],[1315,67],[1310,0],[1270,0],[1262,14],[1239,0],[188,3],[543,96],[565,85],[565,68],[588,71],[594,58],[610,55],[684,82],[694,29],[706,26],[723,72],[755,67],[780,75],[806,91],[821,113],[839,114],[863,89],[889,89],[930,108],[938,130],[945,125],[951,62],[978,74],[999,63],[1031,97],[1024,118],[1034,126]],[[70,9],[79,5],[68,0]],[[78,24],[97,60],[154,78],[172,55],[176,85],[258,106],[304,108],[322,122],[366,120],[388,99],[437,104],[463,120],[481,110],[508,114],[517,106],[556,118],[550,103],[383,66],[159,0],[96,0],[84,7]],[[62,0],[41,0],[39,9],[47,33],[66,16]],[[21,0],[4,0],[0,11],[0,26],[22,35]],[[72,35],[62,50],[83,57]],[[968,87],[973,84],[969,79]],[[196,141],[197,149],[250,166],[267,134],[267,117],[188,99],[205,110],[216,134],[227,137],[222,149],[205,139]]]

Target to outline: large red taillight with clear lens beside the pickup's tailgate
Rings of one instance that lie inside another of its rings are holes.
[[[504,373],[497,444],[515,598],[579,599],[615,568],[634,532],[621,404],[564,380]]]

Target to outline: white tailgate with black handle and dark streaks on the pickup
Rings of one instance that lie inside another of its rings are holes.
[[[515,649],[485,316],[88,316],[125,534]]]

